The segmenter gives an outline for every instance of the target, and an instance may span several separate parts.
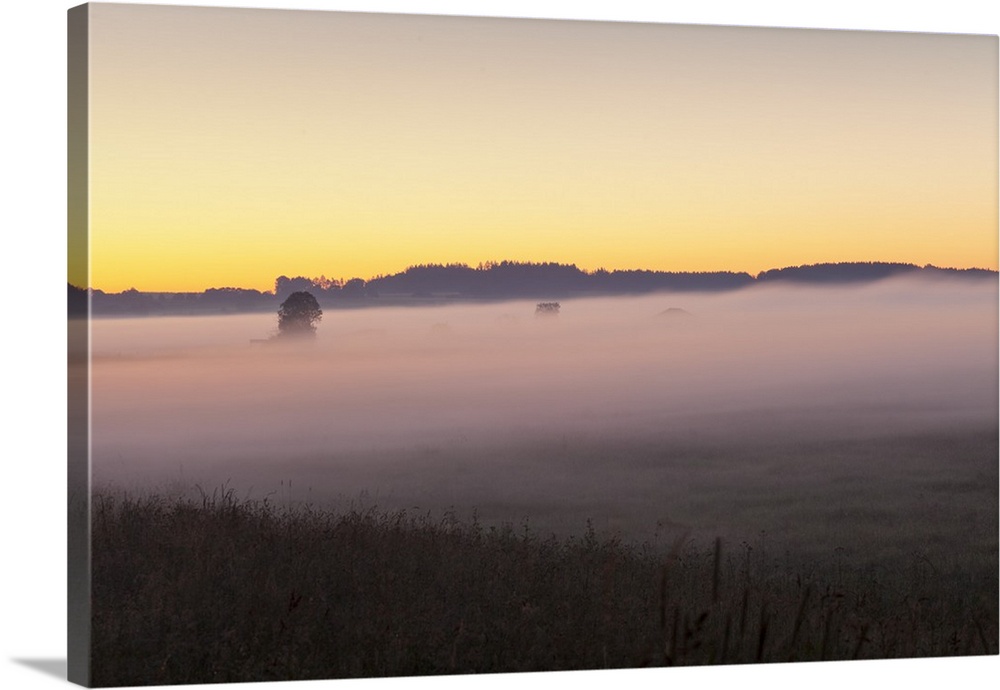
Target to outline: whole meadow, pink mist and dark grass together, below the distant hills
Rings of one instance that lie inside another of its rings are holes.
[[[92,322],[98,684],[996,653],[994,280],[275,330]]]

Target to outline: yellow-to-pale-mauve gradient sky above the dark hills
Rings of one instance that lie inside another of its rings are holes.
[[[995,36],[90,7],[107,291],[997,268]]]

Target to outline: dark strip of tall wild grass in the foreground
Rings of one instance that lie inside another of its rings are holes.
[[[93,683],[997,653],[997,569],[779,564],[446,513],[99,493]]]

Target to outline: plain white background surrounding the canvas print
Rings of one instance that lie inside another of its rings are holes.
[[[1000,14],[988,0],[922,3],[880,0],[777,2],[704,0],[333,0],[205,4],[423,14],[548,17],[673,23],[792,26],[997,34]],[[14,0],[0,18],[0,687],[65,683],[47,668],[66,657],[66,10],[71,2]],[[28,663],[25,663],[28,662]],[[601,688],[841,688],[905,685],[996,687],[1000,657],[960,660],[795,664],[613,673],[263,683],[260,688],[502,688],[572,683]],[[187,686],[212,687],[212,686]]]

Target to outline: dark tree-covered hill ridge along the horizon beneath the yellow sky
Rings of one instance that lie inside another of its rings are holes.
[[[757,276],[730,271],[678,273],[666,271],[584,271],[573,264],[501,261],[471,267],[428,264],[371,280],[279,276],[273,292],[245,288],[211,288],[204,292],[120,293],[91,291],[98,316],[156,314],[224,314],[274,311],[293,292],[307,290],[323,308],[375,305],[419,305],[452,301],[507,299],[558,300],[570,297],[638,295],[651,292],[721,292],[788,282],[810,284],[864,283],[902,275],[962,280],[997,278],[996,271],[916,266],[903,263],[852,262],[791,266]],[[86,314],[86,292],[69,286],[69,314]]]

